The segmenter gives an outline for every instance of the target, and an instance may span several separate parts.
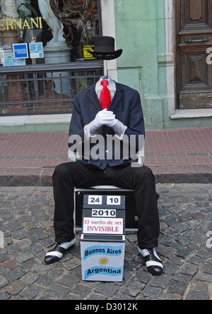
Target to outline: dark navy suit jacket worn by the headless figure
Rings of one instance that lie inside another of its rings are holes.
[[[79,135],[81,138],[82,150],[85,147],[85,137],[84,137],[84,126],[95,119],[95,115],[98,111],[102,110],[100,105],[100,100],[98,99],[95,92],[95,84],[79,92],[73,100],[73,115],[71,118],[70,128],[69,128],[69,139],[71,135]],[[143,112],[141,109],[141,98],[139,92],[128,87],[126,85],[116,83],[116,92],[110,104],[108,110],[113,111],[116,116],[116,119],[121,121],[124,126],[127,126],[124,135],[127,135],[130,139],[130,135],[134,135],[134,140],[136,143],[136,150],[139,150],[139,135],[145,135],[144,131],[144,122],[143,122]],[[105,151],[107,152],[107,136],[114,135],[113,128],[109,126],[102,126],[97,131],[98,135],[102,135],[102,138],[105,140]],[[105,169],[107,164],[110,167],[120,166],[128,164],[131,162],[131,158],[126,155],[123,155],[122,140],[120,141],[120,157],[119,159],[114,159],[114,145],[112,157],[109,159],[105,154],[104,158],[98,159],[88,159],[85,158],[84,152],[82,152],[81,162],[88,164],[90,166],[98,167],[100,169]],[[129,141],[130,143],[130,141]],[[90,150],[96,145],[90,145]],[[116,144],[117,145],[117,144]],[[69,143],[71,148],[73,145]],[[126,152],[126,151],[125,151]],[[124,154],[125,154],[124,152]],[[111,156],[111,155],[110,155]]]

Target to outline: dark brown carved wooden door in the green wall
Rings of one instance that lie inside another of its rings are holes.
[[[209,47],[212,47],[212,0],[176,0],[176,109],[212,107]]]

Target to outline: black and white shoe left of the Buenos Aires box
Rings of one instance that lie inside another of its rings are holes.
[[[64,253],[66,253],[66,250],[68,248],[71,248],[76,242],[76,239],[73,238],[70,242],[64,242],[64,243],[56,243],[53,248],[49,250],[49,252],[45,255],[45,263],[46,264],[52,264],[53,262],[57,262],[60,260]]]

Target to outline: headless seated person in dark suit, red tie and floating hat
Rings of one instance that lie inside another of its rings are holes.
[[[122,49],[114,51],[112,37],[96,37],[95,48],[91,54],[99,59],[111,60],[120,56]],[[45,262],[56,262],[75,243],[74,187],[109,184],[134,190],[139,217],[139,252],[148,271],[156,275],[161,274],[163,263],[155,251],[160,232],[155,177],[151,169],[139,165],[134,156],[126,155],[129,150],[124,146],[133,144],[135,149],[139,150],[139,140],[145,135],[139,92],[114,82],[110,76],[103,76],[97,83],[75,96],[73,107],[69,147],[71,150],[78,148],[80,155],[75,162],[59,164],[54,170],[56,244],[45,256]],[[114,151],[116,147],[107,147],[109,136],[119,141],[119,157]],[[98,140],[100,145],[97,154],[95,143]]]

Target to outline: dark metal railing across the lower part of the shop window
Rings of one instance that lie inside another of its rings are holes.
[[[102,62],[0,69],[0,115],[71,113],[73,97],[102,76]]]

